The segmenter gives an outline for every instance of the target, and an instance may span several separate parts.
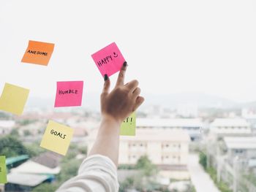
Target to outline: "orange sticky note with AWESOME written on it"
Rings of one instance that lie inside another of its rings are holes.
[[[21,62],[47,66],[53,49],[53,43],[29,41],[29,46]]]

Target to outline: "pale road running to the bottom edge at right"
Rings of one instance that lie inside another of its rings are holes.
[[[189,154],[188,169],[192,183],[197,192],[220,192],[219,189],[214,185],[211,177],[198,163],[198,155]]]

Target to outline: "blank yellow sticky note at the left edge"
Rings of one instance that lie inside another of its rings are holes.
[[[11,112],[15,115],[21,115],[28,96],[29,89],[5,83],[0,98],[0,110]]]

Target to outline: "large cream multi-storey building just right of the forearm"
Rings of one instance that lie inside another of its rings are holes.
[[[91,150],[97,130],[89,134],[88,149]],[[159,166],[160,174],[168,178],[187,179],[189,135],[181,129],[137,128],[135,136],[122,136],[119,147],[119,164],[136,164],[147,155]]]

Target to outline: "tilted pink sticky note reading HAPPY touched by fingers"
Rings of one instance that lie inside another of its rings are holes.
[[[125,61],[115,42],[92,54],[91,57],[103,77],[105,74],[110,77],[120,71]]]

